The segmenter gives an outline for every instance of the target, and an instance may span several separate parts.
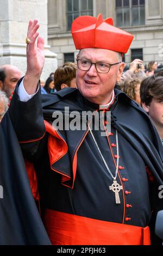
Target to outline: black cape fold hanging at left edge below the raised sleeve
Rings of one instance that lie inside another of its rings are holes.
[[[51,245],[9,113],[0,125],[0,185],[0,245]]]

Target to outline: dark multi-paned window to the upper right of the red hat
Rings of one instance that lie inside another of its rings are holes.
[[[145,25],[145,0],[116,0],[117,27]]]

